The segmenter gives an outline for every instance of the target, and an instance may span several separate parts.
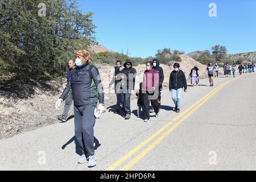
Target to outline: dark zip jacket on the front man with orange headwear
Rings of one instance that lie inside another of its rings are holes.
[[[68,84],[60,96],[67,98],[72,89],[75,106],[97,103],[104,104],[104,90],[98,69],[91,64],[82,65],[72,70]]]

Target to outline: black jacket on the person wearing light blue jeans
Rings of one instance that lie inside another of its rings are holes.
[[[187,90],[187,80],[183,71],[172,71],[169,79],[169,89],[181,89]]]

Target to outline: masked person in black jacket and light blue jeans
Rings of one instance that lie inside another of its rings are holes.
[[[169,79],[169,90],[172,93],[172,100],[175,104],[176,113],[180,113],[181,93],[187,92],[187,80],[183,71],[180,70],[180,64],[174,64],[174,71],[171,72]]]

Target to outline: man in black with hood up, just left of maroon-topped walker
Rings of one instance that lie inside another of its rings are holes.
[[[131,60],[127,60],[124,64],[124,68],[121,71],[123,86],[122,86],[122,93],[123,97],[125,98],[125,119],[131,118],[131,90],[135,88],[135,78],[137,75],[137,71],[133,68],[133,63]]]

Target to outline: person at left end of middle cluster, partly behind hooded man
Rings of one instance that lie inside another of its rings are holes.
[[[121,61],[117,61],[115,63],[115,70],[114,70],[114,74],[113,74],[113,78],[112,81],[109,84],[109,88],[112,88],[112,85],[114,84],[114,89],[115,89],[115,94],[117,96],[117,105],[115,108],[114,113],[118,114],[120,113],[120,111],[123,108],[123,102],[124,102],[124,97],[123,97],[123,93],[122,93],[122,86],[121,86],[121,72],[123,70],[122,67],[122,62]]]

